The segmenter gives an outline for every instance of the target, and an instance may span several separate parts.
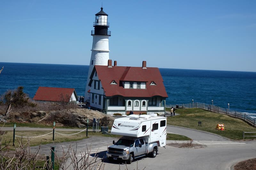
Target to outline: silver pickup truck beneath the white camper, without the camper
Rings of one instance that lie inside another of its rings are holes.
[[[121,160],[131,164],[134,159],[149,155],[156,157],[158,143],[146,143],[145,137],[122,137],[116,143],[108,147],[107,157],[109,161]]]

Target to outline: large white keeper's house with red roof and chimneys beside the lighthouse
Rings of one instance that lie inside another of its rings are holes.
[[[165,99],[168,97],[163,78],[158,68],[117,66],[108,60],[108,65],[93,67],[88,91],[92,109],[113,115],[146,112],[165,113]]]

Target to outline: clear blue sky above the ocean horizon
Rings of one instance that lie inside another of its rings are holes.
[[[0,1],[0,62],[89,65],[108,14],[119,66],[256,71],[256,1]]]

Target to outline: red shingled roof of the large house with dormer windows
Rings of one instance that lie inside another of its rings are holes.
[[[115,95],[124,97],[168,97],[163,78],[156,67],[143,69],[142,67],[95,65],[95,70],[107,97]],[[111,84],[113,80],[117,85]],[[122,85],[119,85],[122,81],[146,82],[146,89],[125,89]],[[156,85],[150,85],[152,81]]]

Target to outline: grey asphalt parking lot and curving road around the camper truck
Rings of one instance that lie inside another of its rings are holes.
[[[145,156],[140,159],[136,159],[129,165],[125,165],[123,162],[109,162],[106,158],[107,147],[112,145],[112,141],[116,141],[117,138],[93,136],[81,141],[72,142],[72,147],[77,148],[78,152],[76,156],[78,158],[81,156],[81,153],[82,155],[85,154],[89,148],[89,150],[91,150],[89,159],[91,160],[94,156],[97,156],[97,159],[103,162],[104,169],[107,170],[126,169],[126,167],[129,170],[144,168],[145,170],[229,170],[236,162],[256,157],[256,141],[231,141],[214,134],[172,126],[168,126],[167,131],[188,136],[194,139],[194,142],[204,144],[206,147],[175,148],[167,145],[166,148],[159,148],[156,158],[149,158]],[[61,143],[62,146],[60,144],[42,145],[40,153],[49,155],[50,146],[53,145],[55,146],[55,151],[61,155],[62,147],[64,150],[68,150],[70,143]],[[31,150],[35,151],[37,148],[38,147],[36,146],[31,147]]]

